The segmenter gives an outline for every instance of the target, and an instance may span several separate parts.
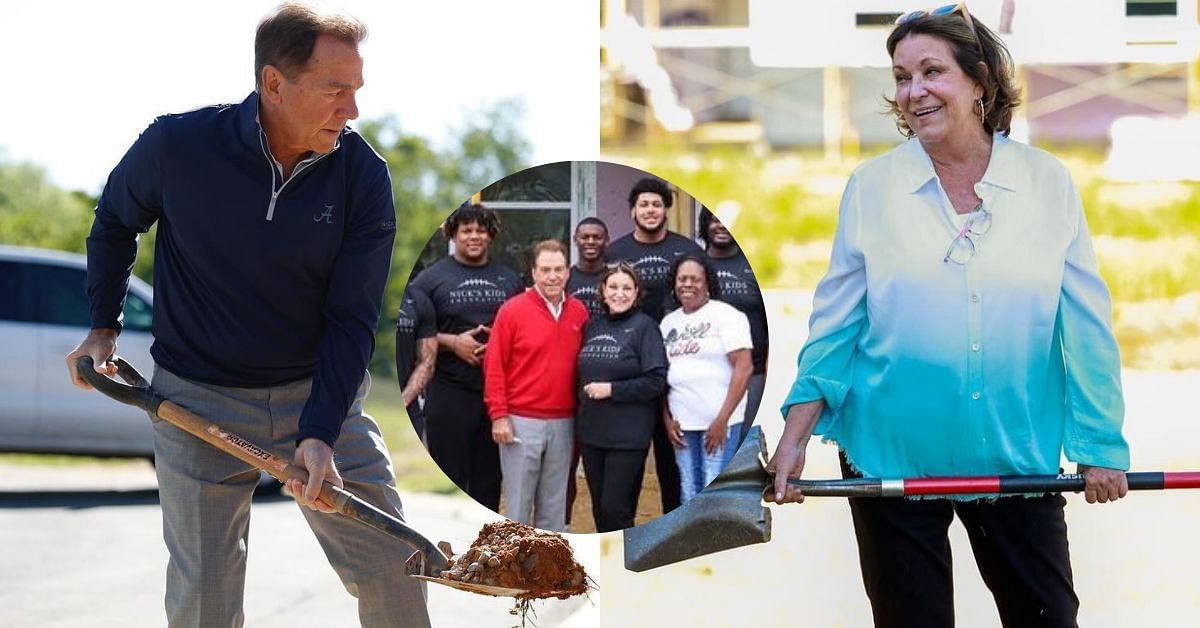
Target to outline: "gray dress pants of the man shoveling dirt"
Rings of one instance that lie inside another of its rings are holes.
[[[173,402],[292,460],[311,379],[270,388],[230,388],[184,379],[156,367],[154,388]],[[364,377],[334,445],[342,480],[354,495],[400,519],[388,448],[362,412]],[[258,471],[174,425],[152,418],[162,502],[167,620],[172,627],[241,626],[250,504]],[[346,590],[359,599],[362,626],[428,626],[425,588],[403,573],[413,550],[337,514],[300,508]]]

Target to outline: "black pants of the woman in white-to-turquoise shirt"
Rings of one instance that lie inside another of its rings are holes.
[[[842,477],[859,477],[842,457]],[[1006,628],[1074,628],[1061,495],[994,501],[851,498],[863,584],[876,628],[954,626],[947,536],[956,514]]]

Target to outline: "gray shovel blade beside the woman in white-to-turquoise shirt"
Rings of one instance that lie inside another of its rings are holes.
[[[625,531],[625,569],[644,572],[724,550],[770,540],[770,510],[762,502],[769,480],[762,430],[751,427],[712,484],[688,503]]]

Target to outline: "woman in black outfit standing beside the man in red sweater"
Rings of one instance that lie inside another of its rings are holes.
[[[600,276],[604,316],[580,351],[576,438],[598,532],[634,526],[642,471],[667,382],[667,354],[653,318],[638,307],[641,280],[622,262]]]

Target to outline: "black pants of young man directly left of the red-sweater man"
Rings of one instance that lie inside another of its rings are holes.
[[[442,472],[476,502],[500,509],[500,451],[484,394],[434,377],[425,389],[425,437]]]

